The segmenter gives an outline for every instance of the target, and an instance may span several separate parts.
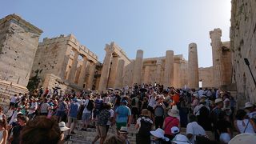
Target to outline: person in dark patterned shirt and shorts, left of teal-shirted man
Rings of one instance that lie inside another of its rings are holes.
[[[110,105],[103,106],[103,110],[98,114],[98,119],[96,123],[96,131],[97,135],[94,138],[93,144],[98,141],[98,138],[100,138],[100,144],[103,144],[105,138],[106,138],[106,124],[110,118]]]

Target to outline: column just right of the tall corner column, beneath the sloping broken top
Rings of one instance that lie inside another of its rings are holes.
[[[114,82],[116,79],[116,74],[117,74],[117,69],[118,69],[118,56],[113,56],[111,65],[110,65],[110,78],[108,78],[108,84],[107,88],[113,88],[114,87]]]

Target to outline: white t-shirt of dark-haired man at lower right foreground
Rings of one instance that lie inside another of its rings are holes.
[[[190,122],[186,126],[186,134],[193,134],[193,137],[190,138],[190,142],[194,144],[194,135],[206,135],[206,131],[202,126],[198,125],[198,122]]]

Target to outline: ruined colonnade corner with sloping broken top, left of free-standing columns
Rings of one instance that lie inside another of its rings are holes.
[[[98,90],[106,90],[106,88],[113,87],[122,88],[122,82],[124,81],[124,78],[126,78],[122,71],[126,71],[124,69],[128,64],[130,64],[130,59],[114,42],[111,42],[110,45],[106,44],[105,50],[106,56],[102,65]],[[118,79],[116,80],[116,78]]]

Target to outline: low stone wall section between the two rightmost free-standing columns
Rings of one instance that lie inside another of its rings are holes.
[[[204,68],[200,67],[199,80],[202,81],[203,88],[214,87],[213,66],[204,67]]]

